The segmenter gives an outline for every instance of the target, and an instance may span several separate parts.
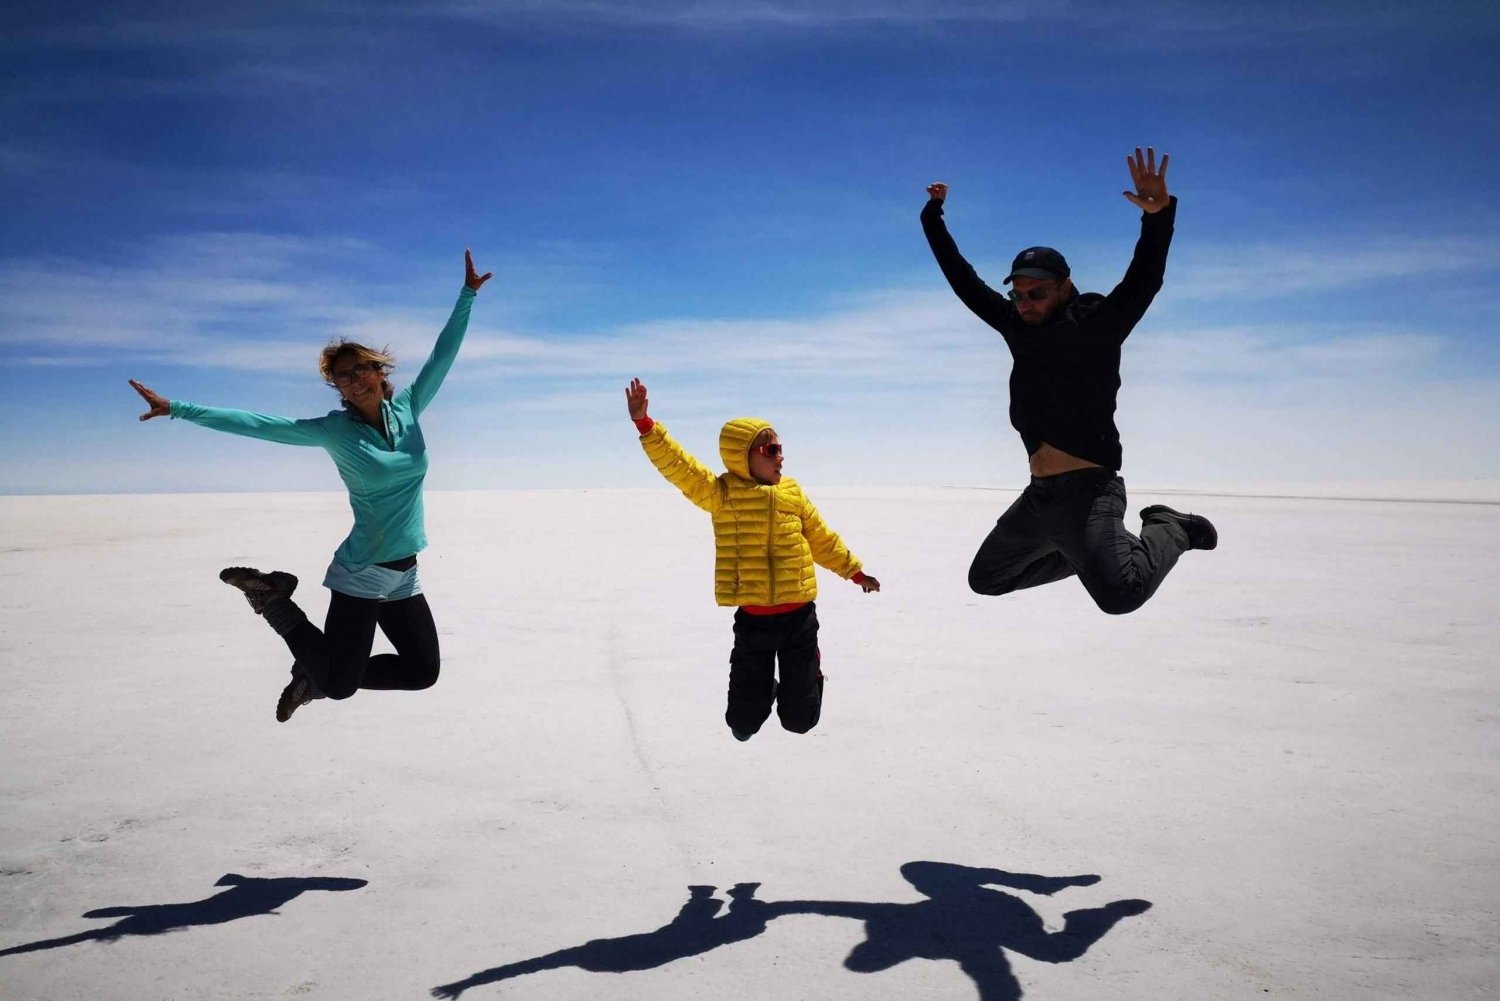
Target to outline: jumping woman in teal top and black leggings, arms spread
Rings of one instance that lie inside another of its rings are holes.
[[[150,405],[141,420],[180,417],[214,431],[321,447],[350,491],[354,528],[333,554],[322,581],[332,596],[321,630],[291,600],[297,587],[291,573],[261,573],[250,567],[219,573],[224,582],[244,593],[255,614],[266,617],[296,657],[291,684],[276,704],[280,722],[320,696],[344,699],[358,689],[417,690],[438,680],[438,630],[417,578],[417,552],[428,545],[422,516],[428,446],[417,419],[453,366],[474,294],[490,278],[474,272],[468,251],[464,269],[465,282],[453,315],[417,378],[399,393],[386,380],[392,357],[350,341],[322,351],[322,377],[344,399],[342,410],[324,417],[291,420],[200,407],[165,399],[130,380]],[[376,626],[396,648],[394,654],[370,656]]]

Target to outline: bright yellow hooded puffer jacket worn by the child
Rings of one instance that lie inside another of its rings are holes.
[[[714,519],[714,599],[720,605],[782,605],[818,597],[813,563],[842,578],[860,561],[819,516],[796,480],[776,486],[750,479],[750,443],[771,425],[736,417],[718,432],[718,455],[729,471],[688,455],[657,422],[640,435],[646,458],[687,500]]]

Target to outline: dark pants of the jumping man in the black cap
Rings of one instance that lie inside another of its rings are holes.
[[[1176,524],[1125,530],[1125,480],[1113,470],[1034,476],[974,555],[969,587],[1010,594],[1078,575],[1089,597],[1112,615],[1146,603],[1188,551]]]

